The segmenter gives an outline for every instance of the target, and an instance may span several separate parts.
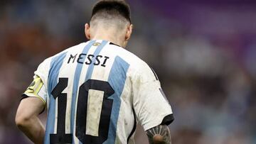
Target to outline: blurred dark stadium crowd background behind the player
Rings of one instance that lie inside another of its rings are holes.
[[[14,124],[21,93],[46,57],[85,41],[94,2],[0,1],[0,143],[28,143]],[[173,143],[256,143],[256,2],[128,2],[127,49],[159,75]],[[148,143],[141,128],[136,138]]]

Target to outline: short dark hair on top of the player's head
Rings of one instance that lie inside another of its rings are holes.
[[[92,9],[92,17],[100,13],[109,16],[122,16],[131,23],[131,11],[126,1],[102,0],[98,1]]]

